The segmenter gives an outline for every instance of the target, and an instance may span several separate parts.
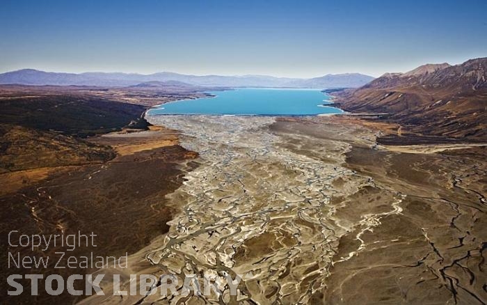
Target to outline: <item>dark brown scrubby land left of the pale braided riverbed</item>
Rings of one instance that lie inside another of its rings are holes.
[[[79,247],[72,254],[89,256],[93,251],[96,256],[115,257],[140,249],[168,230],[173,209],[164,197],[182,184],[197,154],[178,145],[177,132],[148,124],[143,119],[145,104],[202,95],[157,93],[164,96],[137,105],[129,103],[132,97],[113,101],[113,92],[120,90],[1,87],[1,290],[8,289],[10,274],[93,272],[54,269],[59,258],[55,252],[66,247],[44,252],[9,247],[10,230],[29,235],[93,232],[96,247]],[[51,261],[47,269],[8,268],[8,252]],[[27,281],[22,283],[29,287]],[[2,297],[2,302],[47,304],[75,299],[67,293],[52,297],[40,290],[38,297]]]

